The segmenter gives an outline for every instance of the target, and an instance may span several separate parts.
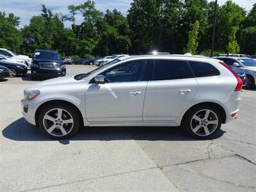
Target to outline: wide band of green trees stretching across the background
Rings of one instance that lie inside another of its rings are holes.
[[[61,56],[79,58],[153,50],[208,55],[211,48],[214,1],[134,0],[126,17],[116,9],[102,13],[92,0],[67,9],[70,14],[63,15],[42,4],[41,14],[22,29],[19,17],[0,12],[0,47],[20,54],[52,49]],[[83,17],[81,24],[76,23],[77,15]],[[70,21],[72,28],[65,28],[65,21]],[[216,54],[227,49],[238,52],[237,44],[244,54],[255,53],[255,26],[256,4],[247,16],[244,8],[231,0],[218,6]]]

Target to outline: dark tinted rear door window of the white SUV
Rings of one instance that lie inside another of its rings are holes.
[[[154,80],[186,79],[193,77],[186,61],[157,60]]]

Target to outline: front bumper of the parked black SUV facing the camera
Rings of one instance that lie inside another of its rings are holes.
[[[32,76],[40,77],[60,77],[66,75],[66,68],[58,69],[42,69],[31,67]]]

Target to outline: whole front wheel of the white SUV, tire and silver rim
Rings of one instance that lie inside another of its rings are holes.
[[[81,125],[77,109],[67,104],[51,104],[42,109],[38,124],[53,139],[66,139],[74,135]]]

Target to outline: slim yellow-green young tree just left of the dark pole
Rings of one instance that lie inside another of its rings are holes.
[[[198,31],[199,31],[199,22],[198,20],[192,26],[192,30],[189,31],[189,40],[185,52],[190,52],[191,54],[196,54],[196,49],[198,47]]]

